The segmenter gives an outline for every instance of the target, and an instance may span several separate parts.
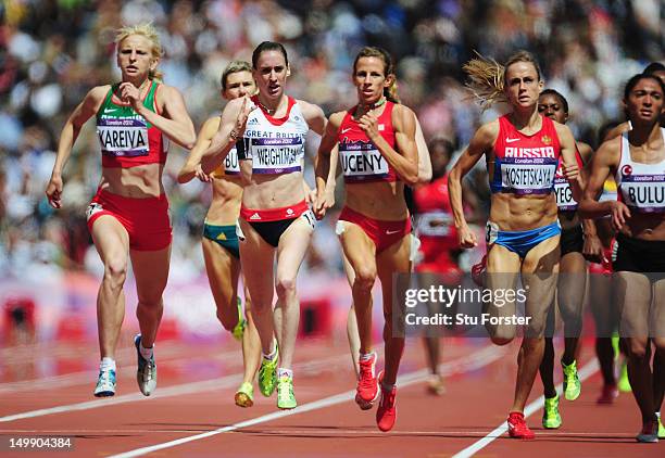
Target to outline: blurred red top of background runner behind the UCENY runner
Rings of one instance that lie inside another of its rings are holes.
[[[425,262],[434,262],[447,251],[457,247],[457,230],[453,224],[448,198],[448,174],[413,193],[421,251]]]

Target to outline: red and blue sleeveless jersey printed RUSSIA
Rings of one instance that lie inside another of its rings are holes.
[[[492,193],[549,194],[554,189],[561,144],[552,119],[540,118],[542,127],[530,136],[518,131],[507,115],[499,118],[494,173],[490,182]]]

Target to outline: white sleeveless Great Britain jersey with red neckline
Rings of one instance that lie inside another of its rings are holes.
[[[253,174],[291,174],[302,170],[305,135],[310,130],[296,99],[288,98],[285,117],[271,116],[261,106],[256,96],[252,101],[259,107],[247,119],[244,148],[252,158]]]

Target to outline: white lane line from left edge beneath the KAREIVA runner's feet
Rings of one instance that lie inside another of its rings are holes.
[[[327,368],[329,368],[330,365],[343,364],[342,361],[346,362],[348,358],[349,358],[349,354],[344,353],[341,355],[331,356],[329,358],[300,362],[293,366],[293,370],[296,371],[311,371],[311,370],[322,371],[322,370],[326,370]],[[230,386],[235,386],[241,381],[242,381],[242,374],[234,373],[234,374],[225,376],[218,379],[203,380],[200,382],[190,382],[190,383],[183,383],[179,385],[166,386],[164,389],[159,389],[150,397],[159,398],[159,397],[168,397],[168,396],[179,396],[183,394],[193,394],[193,393],[201,393],[205,391],[227,389]],[[113,397],[108,397],[103,399],[87,400],[85,403],[68,404],[64,406],[49,407],[45,409],[30,410],[30,411],[21,412],[21,414],[9,415],[7,417],[0,417],[0,423],[23,420],[27,418],[43,417],[46,415],[52,415],[52,414],[64,414],[64,412],[70,412],[70,411],[95,409],[99,407],[109,407],[109,406],[115,406],[118,404],[125,404],[125,403],[131,403],[131,402],[137,402],[137,400],[145,400],[145,399],[146,399],[146,396],[143,396],[140,393],[125,394],[122,396],[113,396]]]

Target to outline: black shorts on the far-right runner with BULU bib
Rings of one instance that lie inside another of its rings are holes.
[[[615,272],[665,272],[665,240],[641,240],[619,232],[616,243]]]

